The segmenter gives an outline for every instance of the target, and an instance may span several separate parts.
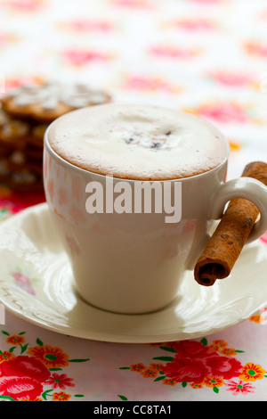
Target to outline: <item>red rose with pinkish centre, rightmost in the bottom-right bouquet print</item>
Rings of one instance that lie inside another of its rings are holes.
[[[210,368],[210,375],[230,379],[238,377],[242,368],[241,363],[236,358],[221,357],[214,355],[206,358],[206,366]]]

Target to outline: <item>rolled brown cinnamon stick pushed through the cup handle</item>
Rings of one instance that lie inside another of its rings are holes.
[[[242,177],[253,177],[267,185],[267,163],[247,164]],[[235,198],[230,201],[219,225],[199,257],[194,276],[201,285],[213,285],[217,279],[231,274],[231,269],[247,241],[259,210],[251,201]]]

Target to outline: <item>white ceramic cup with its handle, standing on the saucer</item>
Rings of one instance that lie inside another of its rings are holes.
[[[110,194],[110,186],[119,190],[124,182],[134,191],[136,182],[142,181],[77,168],[53,151],[48,133],[49,127],[44,136],[46,201],[69,255],[77,292],[93,306],[125,314],[166,307],[174,300],[185,271],[193,269],[206,245],[211,223],[222,217],[225,204],[233,197],[247,198],[260,210],[261,218],[248,242],[267,229],[267,188],[248,177],[225,183],[229,147],[216,168],[158,182],[161,191],[167,183],[172,196],[176,191],[180,197],[176,202],[179,222],[166,222],[170,214],[164,211],[111,212],[116,198]],[[88,213],[88,185],[96,185],[92,182],[101,185],[104,200],[108,193],[108,212]]]

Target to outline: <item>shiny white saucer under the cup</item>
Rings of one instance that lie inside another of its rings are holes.
[[[0,300],[30,323],[96,341],[148,343],[193,339],[247,319],[267,302],[267,248],[242,251],[231,276],[212,287],[192,272],[167,308],[118,315],[93,308],[76,293],[47,205],[30,207],[0,225]]]

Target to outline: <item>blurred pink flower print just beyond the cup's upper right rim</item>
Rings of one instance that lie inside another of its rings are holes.
[[[247,113],[239,103],[206,103],[198,108],[197,113],[202,118],[219,123],[247,122]]]

